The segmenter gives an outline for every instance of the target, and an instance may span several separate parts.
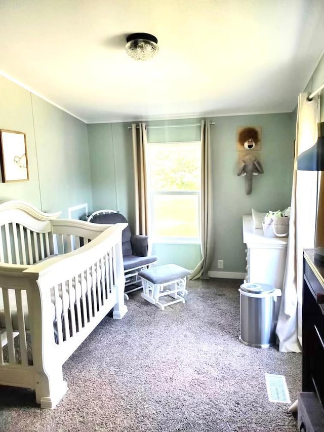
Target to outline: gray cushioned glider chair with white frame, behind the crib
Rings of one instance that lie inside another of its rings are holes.
[[[114,210],[98,210],[92,213],[87,220],[93,223],[128,223],[125,216]],[[148,236],[132,234],[129,226],[123,230],[121,241],[123,243],[125,294],[128,299],[128,293],[142,288],[142,280],[138,277],[138,272],[155,264],[157,257],[150,255]]]

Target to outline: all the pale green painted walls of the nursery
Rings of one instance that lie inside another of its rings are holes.
[[[311,85],[324,81],[324,62]],[[86,125],[0,76],[0,128],[26,133],[29,181],[0,183],[0,200],[21,199],[44,211],[62,211],[87,203],[89,212],[102,208],[125,214],[134,229],[134,171],[130,123]],[[296,97],[297,101],[297,97]],[[150,142],[196,141],[201,119],[147,122]],[[241,217],[251,208],[276,210],[290,204],[295,113],[228,116],[210,119],[215,256],[211,271],[244,272]],[[187,127],[172,127],[184,125]],[[190,126],[191,125],[191,126]],[[154,128],[154,126],[164,126]],[[245,194],[245,178],[237,177],[236,130],[262,128],[260,159],[264,174],[255,176],[253,192]],[[199,245],[156,244],[159,264],[174,262],[193,268]]]

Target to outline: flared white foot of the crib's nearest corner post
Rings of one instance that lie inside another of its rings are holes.
[[[55,408],[68,387],[63,380],[62,366],[55,366],[50,373],[35,371],[36,402],[41,408]]]

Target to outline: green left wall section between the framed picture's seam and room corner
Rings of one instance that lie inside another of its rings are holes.
[[[87,125],[32,95],[42,207],[92,206]]]

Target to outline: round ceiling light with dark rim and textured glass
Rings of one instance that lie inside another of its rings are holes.
[[[149,33],[130,34],[126,42],[126,52],[134,60],[149,60],[158,52],[157,39]]]

